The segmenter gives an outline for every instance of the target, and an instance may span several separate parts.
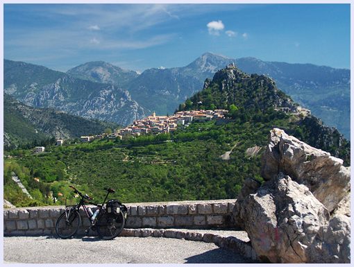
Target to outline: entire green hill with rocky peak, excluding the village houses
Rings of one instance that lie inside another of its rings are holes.
[[[57,204],[72,199],[69,184],[98,201],[107,186],[117,189],[121,201],[130,203],[237,198],[244,179],[262,181],[260,158],[273,127],[317,142],[317,147],[328,148],[349,164],[350,144],[337,130],[322,126],[314,117],[274,110],[279,105],[294,108],[296,103],[266,76],[250,76],[233,67],[222,69],[181,108],[194,105],[228,107],[230,119],[194,122],[165,135],[49,147],[50,153],[40,155],[14,150],[12,159],[5,162],[4,196],[15,205],[26,205],[11,194],[8,176],[14,170],[42,203],[48,203],[44,195],[49,191],[58,198]],[[231,150],[230,159],[223,160],[221,155]]]

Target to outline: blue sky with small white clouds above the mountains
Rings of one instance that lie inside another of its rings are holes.
[[[349,4],[4,4],[4,58],[67,71],[230,58],[350,68]]]

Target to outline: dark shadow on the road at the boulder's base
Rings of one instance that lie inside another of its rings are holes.
[[[229,250],[216,248],[200,255],[186,258],[186,264],[253,264],[258,261],[246,259],[236,252],[230,253]]]

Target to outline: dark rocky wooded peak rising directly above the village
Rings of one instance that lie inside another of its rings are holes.
[[[233,65],[217,71],[212,80],[206,79],[203,90],[181,105],[193,110],[230,109],[235,105],[248,112],[269,108],[289,107],[296,110],[296,103],[276,87],[269,77],[246,74]]]

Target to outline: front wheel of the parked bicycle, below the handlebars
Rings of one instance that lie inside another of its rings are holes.
[[[81,223],[80,214],[76,209],[63,212],[56,221],[56,234],[62,239],[69,239],[78,231]]]

